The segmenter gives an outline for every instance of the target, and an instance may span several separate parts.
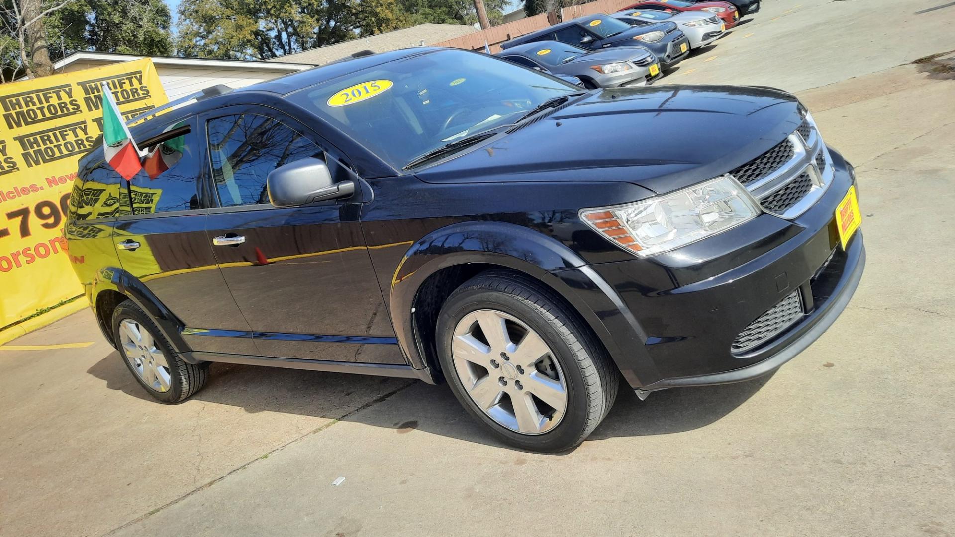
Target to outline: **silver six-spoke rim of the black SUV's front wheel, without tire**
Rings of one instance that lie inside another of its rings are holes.
[[[540,435],[561,422],[567,385],[541,336],[497,310],[472,311],[451,342],[457,378],[484,414],[508,429]]]

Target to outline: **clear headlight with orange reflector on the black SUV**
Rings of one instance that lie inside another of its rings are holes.
[[[759,212],[745,188],[720,176],[643,202],[584,209],[581,218],[617,246],[647,256],[739,226]]]

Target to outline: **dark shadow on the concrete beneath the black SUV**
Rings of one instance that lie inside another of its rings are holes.
[[[90,375],[106,388],[153,401],[138,385],[117,352],[94,364]],[[263,411],[341,419],[410,429],[508,448],[467,415],[447,385],[379,376],[344,375],[281,368],[215,363],[209,383],[193,399]],[[753,397],[772,376],[723,386],[656,392],[639,400],[622,385],[613,409],[590,440],[666,435],[704,427],[730,414]],[[359,397],[343,410],[345,397]],[[363,398],[362,398],[363,397]],[[156,412],[162,412],[157,402]]]

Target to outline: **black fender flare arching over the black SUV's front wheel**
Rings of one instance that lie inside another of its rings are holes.
[[[501,222],[462,222],[435,229],[408,248],[392,277],[389,312],[394,332],[409,363],[428,371],[423,342],[418,338],[412,309],[422,285],[441,269],[486,263],[515,269],[559,294],[607,345],[613,338],[604,322],[564,279],[554,273],[586,266],[584,259],[557,239],[525,226]],[[596,272],[586,271],[592,279]],[[603,282],[596,287],[606,290]],[[615,357],[616,349],[607,349]]]

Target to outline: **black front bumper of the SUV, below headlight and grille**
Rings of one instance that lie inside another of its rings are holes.
[[[833,182],[792,221],[763,214],[668,253],[553,272],[602,320],[605,347],[631,387],[765,375],[835,321],[859,285],[865,249],[860,230],[845,250],[838,244],[836,206],[855,179],[838,153],[830,155]],[[732,351],[754,319],[796,291],[803,311],[795,324]]]

